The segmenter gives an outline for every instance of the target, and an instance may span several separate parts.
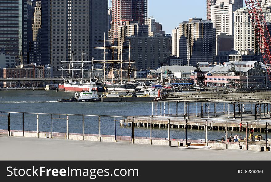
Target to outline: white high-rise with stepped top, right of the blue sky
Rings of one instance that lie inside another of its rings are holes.
[[[216,29],[216,34],[234,34],[233,12],[243,7],[243,0],[216,0],[211,6],[211,19]]]

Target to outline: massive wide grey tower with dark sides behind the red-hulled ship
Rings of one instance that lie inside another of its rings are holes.
[[[107,0],[42,0],[42,62],[51,62],[53,77],[67,69],[63,61],[103,59],[102,47],[108,37]],[[47,56],[43,55],[46,52]],[[86,67],[89,65],[85,64]],[[75,65],[80,67],[80,65]]]

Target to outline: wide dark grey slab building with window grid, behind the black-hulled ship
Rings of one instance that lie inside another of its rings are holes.
[[[126,37],[124,46],[129,46],[131,40],[131,59],[135,60],[135,67],[140,69],[154,69],[168,58],[168,37]],[[126,60],[128,60],[128,50],[126,50]]]

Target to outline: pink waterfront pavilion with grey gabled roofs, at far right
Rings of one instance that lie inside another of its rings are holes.
[[[266,87],[266,67],[257,61],[234,61],[216,65],[205,73],[207,87],[260,88]]]

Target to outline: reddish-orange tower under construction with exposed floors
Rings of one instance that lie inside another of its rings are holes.
[[[112,38],[118,38],[118,26],[126,21],[148,25],[148,0],[112,0]]]

